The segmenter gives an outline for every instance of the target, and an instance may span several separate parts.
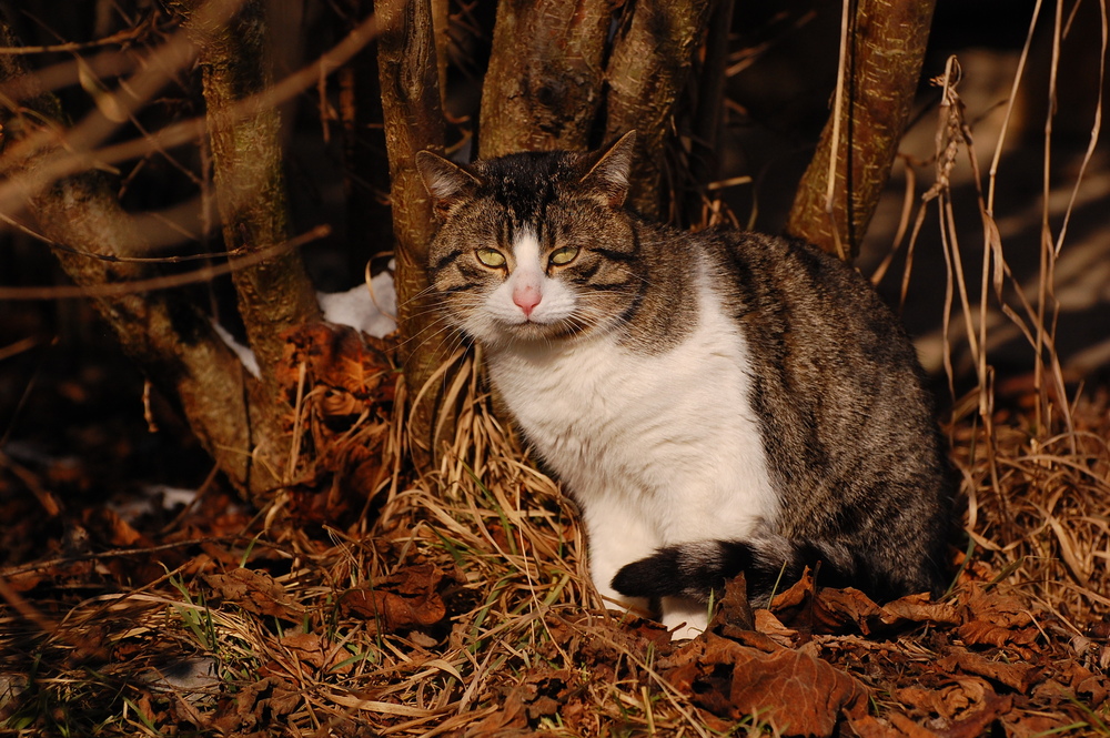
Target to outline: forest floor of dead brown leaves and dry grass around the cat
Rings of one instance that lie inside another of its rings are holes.
[[[956,403],[940,600],[818,573],[770,609],[730,589],[670,643],[599,606],[574,510],[468,360],[456,443],[422,478],[381,354],[314,365],[345,404],[305,439],[343,472],[253,510],[157,397],[144,418],[110,350],[69,352],[0,364],[24,398],[0,428],[4,735],[1110,736],[1106,392],[1048,423],[1016,380],[989,428],[977,395]]]

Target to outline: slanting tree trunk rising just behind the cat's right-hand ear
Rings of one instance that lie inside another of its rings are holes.
[[[668,122],[708,16],[709,0],[629,2],[614,41],[606,73],[606,135],[613,140],[633,129],[639,132],[628,200],[650,218],[660,212]]]

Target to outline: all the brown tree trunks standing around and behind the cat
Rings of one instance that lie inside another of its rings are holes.
[[[361,3],[350,4],[357,9]],[[844,257],[855,255],[906,125],[932,6],[928,0],[848,4],[839,117],[830,118],[798,188],[791,233]],[[274,376],[282,334],[320,320],[299,253],[282,247],[291,233],[278,108],[248,104],[273,85],[269,7],[263,0],[171,3],[188,41],[181,58],[194,59],[202,71],[202,135],[211,152],[223,243],[236,257],[253,254],[233,270],[233,279],[260,375],[243,370],[184,290],[102,290],[95,297],[125,351],[179,404],[228,478],[259,503],[287,482],[281,469],[290,438],[282,418],[290,398]],[[448,8],[446,0],[374,0],[373,13],[402,360],[408,396],[421,396],[408,436],[413,459],[423,465],[434,457],[438,441],[451,435],[442,422],[448,418],[450,426],[451,413],[440,407],[436,391],[445,383],[428,384],[447,361],[451,343],[422,340],[435,331],[424,271],[435,224],[413,156],[424,149],[442,152],[445,145]],[[630,201],[645,214],[658,215],[667,194],[664,162],[675,107],[692,88],[697,93],[692,161],[702,162],[693,165],[694,175],[712,171],[705,162],[715,153],[730,17],[730,0],[501,0],[482,84],[476,151],[495,156],[583,150],[636,129]],[[2,34],[3,47],[18,46],[7,28]],[[51,169],[65,156],[95,153],[97,139],[74,150],[81,143],[74,131],[88,121],[71,125],[19,55],[0,53],[0,176],[8,182],[0,188],[0,202],[24,206],[34,230],[62,246],[57,253],[77,284],[95,291],[150,277],[155,266],[127,259],[144,253],[147,234],[121,209],[108,175],[91,164],[77,173]],[[51,175],[56,170],[62,174]]]

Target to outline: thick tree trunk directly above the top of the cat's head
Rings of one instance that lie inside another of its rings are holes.
[[[603,97],[612,4],[501,1],[482,89],[483,158],[588,148]]]

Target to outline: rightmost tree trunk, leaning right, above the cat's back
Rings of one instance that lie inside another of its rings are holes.
[[[851,261],[890,176],[925,59],[935,0],[859,0],[850,18],[833,210],[827,211],[830,117],[795,195],[786,230]]]

